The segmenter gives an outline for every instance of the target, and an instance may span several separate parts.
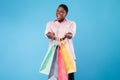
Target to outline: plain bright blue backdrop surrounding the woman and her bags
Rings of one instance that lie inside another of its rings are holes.
[[[120,0],[0,0],[0,80],[47,80],[44,31],[61,3],[77,24],[76,80],[120,80]]]

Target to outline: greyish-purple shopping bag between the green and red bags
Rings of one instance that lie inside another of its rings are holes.
[[[48,80],[58,80],[58,46],[54,53]]]

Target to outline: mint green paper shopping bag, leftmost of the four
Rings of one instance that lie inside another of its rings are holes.
[[[41,64],[40,73],[43,73],[46,75],[49,74],[56,46],[57,46],[56,44],[53,44],[49,47],[49,49],[45,55],[45,58]]]

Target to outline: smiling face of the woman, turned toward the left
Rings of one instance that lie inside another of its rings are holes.
[[[63,7],[58,7],[57,11],[56,11],[56,17],[58,21],[62,21],[64,20],[64,18],[66,17],[67,13],[64,10]]]

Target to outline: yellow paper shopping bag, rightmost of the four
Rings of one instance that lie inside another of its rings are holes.
[[[62,57],[63,57],[63,60],[64,60],[65,69],[66,69],[67,74],[76,72],[76,67],[75,67],[75,64],[74,64],[74,60],[70,56],[70,54],[69,54],[69,52],[66,48],[66,43],[65,42],[61,43],[60,49],[61,49],[61,53],[62,53]]]

